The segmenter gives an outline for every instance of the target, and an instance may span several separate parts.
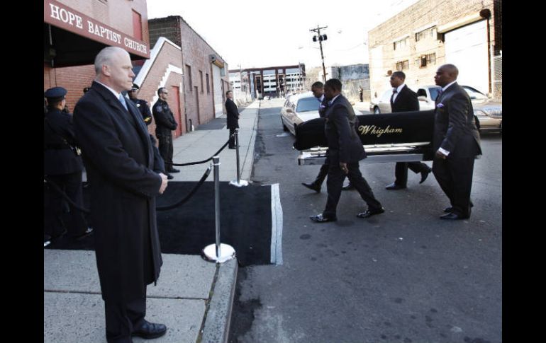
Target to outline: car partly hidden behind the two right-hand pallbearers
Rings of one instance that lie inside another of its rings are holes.
[[[480,132],[498,131],[502,133],[502,103],[489,99],[484,93],[470,86],[462,86],[467,91],[472,107],[474,107],[474,117],[477,119]],[[434,110],[435,101],[438,97],[440,86],[428,85],[420,86],[417,90],[419,100],[419,110]],[[380,98],[374,99],[369,103],[370,112],[379,115],[381,113],[391,112],[392,90],[389,88]]]

